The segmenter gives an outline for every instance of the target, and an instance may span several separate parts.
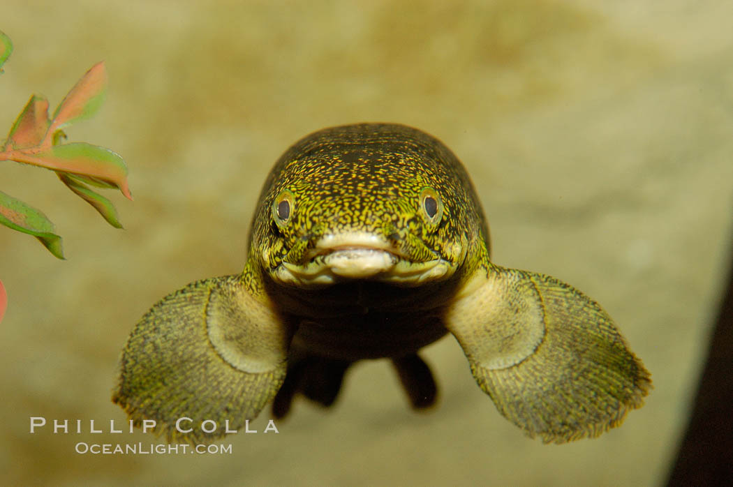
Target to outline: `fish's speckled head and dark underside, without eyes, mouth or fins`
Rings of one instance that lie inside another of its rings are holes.
[[[444,204],[437,226],[421,218],[426,186]],[[280,229],[270,207],[283,190],[295,197],[294,215]],[[344,360],[410,354],[441,338],[441,308],[488,263],[488,228],[465,169],[440,141],[405,125],[333,127],[298,141],[270,171],[252,228],[246,280],[263,282],[279,308],[301,321],[295,346]],[[380,234],[411,261],[438,255],[457,272],[422,286],[344,280],[303,289],[269,278],[283,259],[299,264],[306,247],[339,231]],[[270,249],[268,261],[257,259],[260,249]],[[253,267],[265,269],[261,281],[248,277]]]

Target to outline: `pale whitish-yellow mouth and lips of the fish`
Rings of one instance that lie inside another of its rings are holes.
[[[301,263],[283,261],[274,270],[273,277],[296,286],[358,279],[418,286],[452,274],[453,267],[437,254],[435,259],[411,261],[391,242],[358,232],[325,235],[306,250]]]

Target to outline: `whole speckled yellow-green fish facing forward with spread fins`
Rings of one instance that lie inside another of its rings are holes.
[[[329,406],[367,358],[390,358],[412,406],[430,406],[435,382],[417,353],[446,332],[499,412],[545,442],[619,425],[651,387],[600,305],[490,261],[471,180],[420,130],[303,138],[270,172],[252,228],[242,275],[166,297],[122,353],[113,400],[169,441],[216,439],[226,431],[203,432],[207,420],[240,428],[271,400],[282,417],[298,393]],[[180,417],[197,428],[179,431]]]

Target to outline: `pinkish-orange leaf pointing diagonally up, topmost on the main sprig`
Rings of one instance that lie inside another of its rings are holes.
[[[78,120],[88,119],[97,113],[107,86],[107,72],[104,62],[98,62],[75,84],[64,100],[59,103],[51,122],[51,133],[55,133]]]

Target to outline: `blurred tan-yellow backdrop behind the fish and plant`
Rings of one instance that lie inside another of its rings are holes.
[[[0,131],[32,93],[53,108],[97,61],[110,86],[70,141],[119,152],[135,200],[108,226],[50,171],[0,163],[67,261],[0,228],[0,478],[9,485],[653,486],[663,483],[726,277],[733,203],[728,1],[6,1],[15,44]],[[153,302],[240,272],[260,185],[298,138],[402,122],[463,160],[496,263],[600,301],[652,372],[643,409],[598,439],[542,445],[504,420],[452,338],[424,353],[440,400],[417,414],[384,361],[331,410],[301,400],[231,455],[80,455],[109,434],[119,351]],[[83,434],[29,434],[29,417]],[[89,434],[95,420],[103,434]]]

